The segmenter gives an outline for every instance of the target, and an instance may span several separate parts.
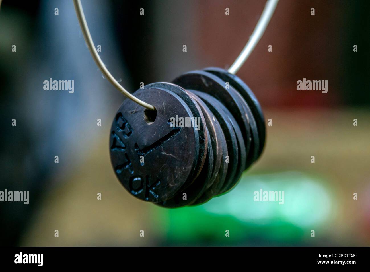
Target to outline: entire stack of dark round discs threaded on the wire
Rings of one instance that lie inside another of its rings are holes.
[[[167,208],[202,204],[239,181],[265,145],[250,88],[221,68],[191,71],[126,99],[110,131],[111,162],[130,194]]]

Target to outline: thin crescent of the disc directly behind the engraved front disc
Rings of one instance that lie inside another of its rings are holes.
[[[190,123],[186,122],[186,125],[196,125],[197,126],[196,129],[199,135],[199,156],[196,162],[194,173],[191,173],[191,175],[189,175],[188,180],[183,185],[183,188],[186,188],[196,179],[196,177],[198,177],[203,167],[204,161],[206,159],[208,137],[207,137],[206,130],[205,130],[206,123],[205,123],[205,118],[203,116],[202,110],[199,107],[199,105],[196,103],[196,101],[194,101],[194,99],[189,96],[188,92],[178,85],[168,83],[168,82],[157,82],[157,83],[148,84],[144,86],[144,88],[164,88],[165,90],[175,93],[186,103],[186,105],[188,105],[188,107],[190,108],[192,112],[192,115],[195,118],[194,122],[192,121],[190,121]]]

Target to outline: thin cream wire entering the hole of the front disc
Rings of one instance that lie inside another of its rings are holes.
[[[118,91],[120,91],[122,94],[126,95],[129,99],[131,99],[135,103],[137,103],[137,104],[139,104],[139,105],[141,105],[141,106],[143,106],[143,107],[145,107],[149,110],[155,110],[155,108],[152,105],[150,105],[148,103],[145,103],[144,101],[140,100],[139,98],[135,97],[134,95],[130,94],[127,90],[125,90],[125,88],[122,87],[122,85],[120,83],[118,83],[118,81],[115,80],[115,78],[112,76],[112,74],[108,71],[108,69],[105,67],[103,61],[101,60],[101,58],[100,58],[100,56],[99,56],[99,54],[98,54],[98,52],[95,48],[94,42],[92,41],[89,28],[87,27],[84,11],[82,9],[81,1],[80,0],[73,0],[73,3],[74,3],[74,8],[76,10],[77,18],[78,18],[78,21],[80,22],[81,30],[82,30],[82,33],[84,35],[87,47],[89,48],[91,56],[94,59],[96,65],[100,68],[100,70],[103,73],[103,75],[105,76],[105,78],[107,78],[108,81]]]

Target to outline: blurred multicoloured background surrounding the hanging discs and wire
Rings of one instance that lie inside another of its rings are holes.
[[[265,1],[82,4],[102,60],[134,92],[140,82],[231,66]],[[131,197],[115,178],[108,135],[124,97],[92,60],[73,2],[3,0],[0,191],[30,191],[30,204],[0,202],[0,245],[369,246],[369,7],[279,1],[237,73],[272,119],[264,154],[228,194],[168,210]],[[297,91],[304,77],[328,80],[328,93]],[[74,93],[44,91],[49,78],[74,80]],[[285,204],[254,202],[260,188],[285,191]]]

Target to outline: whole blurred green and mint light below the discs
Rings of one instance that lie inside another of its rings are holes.
[[[300,172],[244,174],[227,194],[191,207],[160,213],[169,241],[238,242],[267,240],[296,242],[307,229],[323,224],[331,214],[332,198],[322,181]],[[254,201],[254,192],[284,191],[284,204]],[[225,237],[228,229],[232,235]]]

